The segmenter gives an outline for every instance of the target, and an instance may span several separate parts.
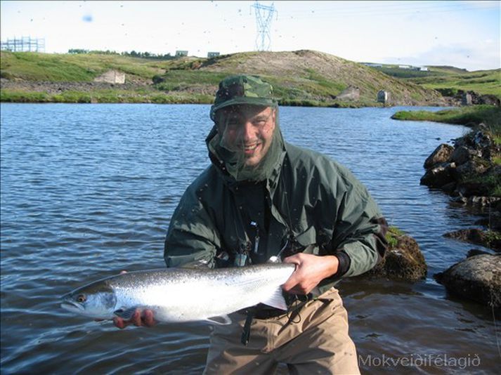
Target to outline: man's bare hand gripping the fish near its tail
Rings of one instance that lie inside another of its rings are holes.
[[[308,294],[319,282],[337,272],[339,259],[334,255],[294,254],[284,259],[284,263],[294,263],[296,270],[282,285],[282,289],[292,294]]]

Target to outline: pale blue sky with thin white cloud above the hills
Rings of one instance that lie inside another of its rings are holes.
[[[70,48],[206,56],[254,51],[254,1],[1,1],[1,39]],[[359,62],[495,69],[500,1],[260,1],[276,13],[271,50]]]

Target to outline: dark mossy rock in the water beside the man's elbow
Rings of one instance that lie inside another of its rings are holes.
[[[364,275],[416,282],[427,275],[427,263],[415,239],[393,235],[396,244],[390,246],[382,261]]]

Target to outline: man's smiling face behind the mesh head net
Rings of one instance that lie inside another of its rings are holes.
[[[221,109],[218,121],[223,145],[242,152],[246,166],[256,166],[268,152],[275,131],[275,110],[255,105],[232,105]]]

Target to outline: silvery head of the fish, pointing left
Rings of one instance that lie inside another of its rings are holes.
[[[103,281],[75,289],[62,299],[65,310],[94,319],[111,319],[117,303],[115,291]]]

